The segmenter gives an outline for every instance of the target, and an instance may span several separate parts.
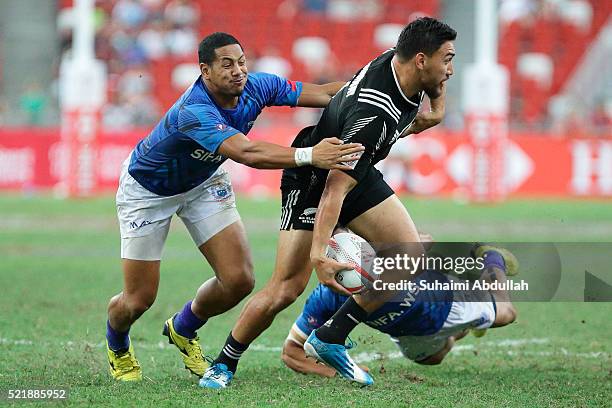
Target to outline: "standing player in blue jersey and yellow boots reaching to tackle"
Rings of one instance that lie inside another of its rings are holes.
[[[230,178],[219,167],[226,159],[254,168],[347,169],[342,162],[363,150],[336,138],[293,148],[246,136],[264,107],[325,107],[344,83],[313,85],[248,74],[240,43],[225,33],[204,38],[198,57],[201,76],[136,145],[121,172],[117,214],[124,286],[110,300],[106,332],[110,371],[117,380],[142,378],[129,330],[155,301],[174,214],[215,273],[163,328],[192,373],[202,376],[208,367],[196,330],[253,289],[246,234]],[[199,282],[192,284],[195,288]]]

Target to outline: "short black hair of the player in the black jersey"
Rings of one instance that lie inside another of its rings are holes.
[[[442,44],[455,38],[457,32],[447,24],[431,17],[417,18],[400,33],[395,53],[402,60],[409,60],[419,52],[432,56]]]

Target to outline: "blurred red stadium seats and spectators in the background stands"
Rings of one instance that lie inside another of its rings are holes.
[[[72,3],[60,1],[58,10],[62,54],[71,48]],[[200,0],[97,0],[96,56],[106,61],[109,72],[104,125],[111,129],[152,125],[197,75],[193,50],[211,31],[237,31],[252,71],[324,83],[350,78],[367,62],[364,55],[386,49],[395,41],[398,25],[421,15],[439,15],[443,7],[440,1],[420,0],[406,4],[388,0],[265,0],[253,8],[255,14],[246,6],[248,10],[241,12],[253,18],[256,27],[248,28],[236,17],[236,10],[245,8],[239,3],[227,1],[213,10]],[[563,92],[588,48],[585,44],[604,31],[601,28],[611,9],[605,0],[501,2],[499,57],[511,74],[513,129],[559,135],[612,133],[610,86],[593,90],[591,99],[596,102],[590,104],[576,93]],[[355,22],[360,23],[359,31],[350,31]],[[275,31],[270,31],[270,26]],[[348,42],[345,39],[358,35],[363,40],[359,50],[344,44]],[[558,96],[561,93],[563,97]],[[52,94],[38,83],[24,88],[20,103],[24,124],[44,124],[41,117],[53,103]],[[458,99],[452,94],[449,97]],[[2,106],[0,101],[0,123],[6,111]],[[273,117],[302,123],[313,120],[311,112],[300,109],[280,110]],[[450,109],[443,126],[462,129],[461,111]]]

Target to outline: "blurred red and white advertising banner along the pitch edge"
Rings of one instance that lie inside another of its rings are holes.
[[[249,137],[289,145],[299,129],[254,129]],[[121,163],[148,130],[98,135],[94,157],[96,192],[116,188]],[[32,191],[58,187],[69,163],[62,160],[57,129],[0,130],[0,189]],[[398,193],[471,196],[473,141],[463,133],[429,131],[400,140],[380,163]],[[612,138],[556,138],[510,134],[503,149],[503,183],[509,196],[612,197]],[[226,162],[237,191],[276,195],[280,171]],[[501,179],[501,180],[500,180]]]

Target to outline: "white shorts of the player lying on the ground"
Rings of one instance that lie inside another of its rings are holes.
[[[487,329],[495,322],[495,305],[491,302],[453,302],[439,332],[427,336],[391,337],[409,360],[421,361],[446,346],[450,336],[466,329]]]

